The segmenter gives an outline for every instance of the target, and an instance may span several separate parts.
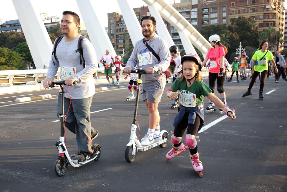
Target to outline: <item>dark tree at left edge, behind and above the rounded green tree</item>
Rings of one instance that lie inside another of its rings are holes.
[[[11,49],[22,42],[26,42],[24,34],[17,32],[0,33],[0,47],[7,47]]]

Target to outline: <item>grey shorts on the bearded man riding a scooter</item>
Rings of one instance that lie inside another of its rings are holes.
[[[141,85],[141,100],[148,100],[150,102],[158,103],[164,92],[166,85],[166,79],[160,79],[158,81],[152,81],[149,83],[143,83]]]

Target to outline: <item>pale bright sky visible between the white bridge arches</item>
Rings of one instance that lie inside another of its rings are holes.
[[[83,21],[76,0],[30,0],[30,2],[32,3],[36,13],[47,13],[49,16],[59,16],[61,18],[62,12],[68,10],[77,13],[81,22]],[[167,2],[171,4],[174,3],[174,0],[167,0]],[[180,0],[175,0],[175,3],[179,2]],[[92,0],[92,3],[101,7],[98,15],[102,15],[102,20],[100,22],[103,27],[108,27],[107,13],[119,12],[121,14],[117,0]],[[129,0],[129,3],[132,8],[146,5],[146,3],[141,0]],[[0,0],[0,7],[0,19],[2,22],[18,19],[12,0]]]

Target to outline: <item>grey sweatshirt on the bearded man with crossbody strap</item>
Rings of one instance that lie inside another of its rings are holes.
[[[156,71],[155,73],[142,76],[143,83],[165,79],[166,77],[162,74],[162,72],[166,71],[170,65],[170,53],[166,41],[155,34],[152,39],[146,42],[152,47],[156,54],[158,54],[160,61],[158,61],[157,58],[152,54],[152,64],[139,67],[139,54],[150,52],[141,39],[135,43],[133,52],[127,61],[126,67],[131,67],[133,69],[137,65],[138,69],[142,67],[144,70],[146,70],[148,67],[154,67]]]

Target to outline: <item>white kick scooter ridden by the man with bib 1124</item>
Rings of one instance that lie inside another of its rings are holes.
[[[73,84],[77,84],[76,82]],[[59,151],[59,157],[55,161],[54,164],[54,172],[58,176],[63,176],[68,169],[68,164],[70,163],[73,167],[80,167],[86,163],[89,163],[92,160],[98,160],[101,155],[101,147],[98,144],[92,145],[93,154],[91,155],[90,159],[87,161],[79,163],[77,159],[73,159],[75,156],[69,156],[66,144],[65,144],[65,136],[64,136],[64,121],[65,121],[65,115],[64,115],[64,88],[63,85],[65,85],[65,81],[58,81],[58,82],[52,82],[50,87],[55,87],[55,85],[61,86],[61,98],[62,98],[62,105],[61,105],[61,114],[59,115],[61,117],[61,136],[59,141],[56,142],[57,149]]]

